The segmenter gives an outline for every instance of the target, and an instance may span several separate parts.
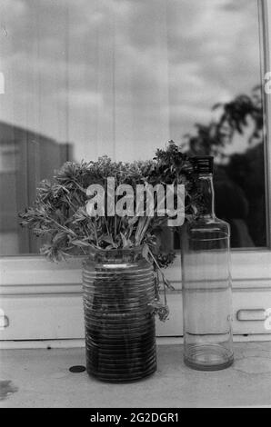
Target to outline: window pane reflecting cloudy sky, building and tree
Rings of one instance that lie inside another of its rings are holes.
[[[169,139],[216,155],[232,245],[265,246],[258,18],[256,0],[2,0],[0,253],[38,252],[17,213],[66,160]]]

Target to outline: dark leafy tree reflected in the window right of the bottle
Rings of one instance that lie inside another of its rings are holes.
[[[258,85],[249,95],[240,94],[228,103],[215,104],[212,110],[219,113],[218,120],[195,124],[196,134],[185,136],[188,154],[211,154],[227,160],[216,168],[216,212],[232,225],[233,247],[244,245],[245,238],[247,243],[247,236],[256,246],[266,245],[265,129],[261,89]],[[247,136],[246,150],[226,155],[224,148],[233,143],[236,134]],[[261,144],[255,144],[256,141]],[[237,223],[243,221],[242,242],[236,220]],[[244,224],[247,226],[245,234]]]

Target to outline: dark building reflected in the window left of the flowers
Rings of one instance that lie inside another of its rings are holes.
[[[35,187],[71,157],[70,144],[0,122],[0,254],[35,253],[36,242],[18,225],[18,212],[35,200]]]

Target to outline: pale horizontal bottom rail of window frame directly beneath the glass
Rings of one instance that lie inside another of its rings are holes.
[[[232,278],[234,288],[271,287],[271,251],[232,251]],[[78,292],[81,286],[82,259],[50,263],[43,256],[3,257],[0,259],[2,294],[51,293],[50,286],[58,285],[61,292]],[[166,277],[176,289],[181,288],[181,261],[176,255],[174,264],[165,270]],[[25,288],[25,289],[24,289]],[[47,292],[45,292],[45,288]],[[69,291],[68,291],[69,290]],[[24,292],[25,291],[25,292]]]

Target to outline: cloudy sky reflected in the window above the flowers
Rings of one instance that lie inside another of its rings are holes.
[[[259,83],[256,0],[1,0],[0,120],[152,157]]]

